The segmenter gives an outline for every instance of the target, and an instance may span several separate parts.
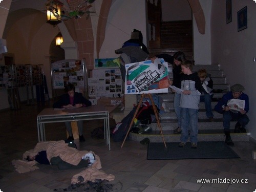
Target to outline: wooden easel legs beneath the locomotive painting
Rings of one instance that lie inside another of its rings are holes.
[[[159,118],[158,118],[158,111],[157,111],[157,109],[156,109],[156,105],[155,105],[155,103],[154,103],[154,100],[153,100],[151,94],[148,93],[148,94],[146,94],[146,95],[147,95],[147,96],[145,96],[145,93],[143,93],[143,94],[141,95],[140,102],[139,102],[139,104],[138,104],[138,106],[137,106],[137,109],[136,109],[136,111],[135,111],[135,114],[134,114],[134,116],[133,116],[133,119],[132,119],[132,121],[131,121],[131,123],[130,123],[129,130],[127,131],[127,133],[126,133],[126,135],[125,135],[125,138],[124,138],[124,140],[123,140],[123,143],[122,143],[121,147],[123,147],[124,141],[126,140],[128,134],[130,133],[131,127],[132,127],[133,122],[134,122],[134,119],[136,118],[136,115],[137,115],[137,113],[138,113],[138,111],[139,111],[139,109],[140,109],[140,106],[141,106],[141,103],[142,103],[143,98],[149,97],[150,100],[151,100],[151,104],[152,104],[152,106],[153,106],[153,110],[154,110],[156,119],[157,119],[157,125],[158,125],[158,127],[159,127],[159,130],[160,130],[161,135],[162,135],[162,138],[163,138],[164,146],[165,146],[165,148],[167,148],[166,143],[165,143],[165,141],[164,141],[164,137],[163,137],[163,132],[162,132],[161,124],[160,124],[160,121],[159,121]]]

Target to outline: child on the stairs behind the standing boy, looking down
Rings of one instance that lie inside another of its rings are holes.
[[[200,69],[198,71],[198,76],[200,77],[201,84],[204,88],[203,93],[200,96],[200,102],[204,102],[208,121],[214,121],[214,114],[211,111],[211,99],[212,96],[214,96],[214,94],[212,94],[212,87],[214,82],[210,78],[210,74],[208,74],[205,69]]]

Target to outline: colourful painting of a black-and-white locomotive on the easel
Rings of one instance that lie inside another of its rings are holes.
[[[168,93],[167,67],[162,58],[126,64],[124,94]]]

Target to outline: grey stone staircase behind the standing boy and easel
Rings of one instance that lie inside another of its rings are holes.
[[[227,84],[224,72],[221,70],[220,65],[196,65],[193,72],[197,72],[199,69],[206,69],[211,74],[211,78],[214,81],[214,89],[226,90],[222,93],[215,93],[211,102],[212,111],[214,113],[214,122],[209,122],[205,115],[204,102],[200,102],[199,106],[199,120],[198,120],[198,141],[225,141],[222,115],[214,111],[214,106],[223,94],[229,91],[229,84]],[[172,78],[172,72],[169,73],[169,77]],[[159,119],[162,127],[162,133],[165,142],[179,142],[180,133],[176,134],[173,131],[178,127],[177,117],[173,108],[174,94],[170,92],[165,94],[159,94],[163,98],[165,103],[165,112],[160,114]],[[140,100],[140,95],[137,96]],[[233,141],[249,141],[249,134],[247,133],[233,133],[234,125],[236,122],[230,123],[231,139]],[[149,138],[151,142],[163,142],[163,138],[160,133],[160,129],[157,123],[151,123],[152,132],[148,134],[135,134],[130,133],[130,139],[135,141],[141,141],[144,138]]]

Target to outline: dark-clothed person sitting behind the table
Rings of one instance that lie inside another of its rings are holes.
[[[65,87],[66,94],[61,95],[60,99],[53,104],[53,108],[81,108],[82,106],[91,106],[92,102],[88,99],[84,98],[81,93],[75,92],[75,86],[71,83],[67,84]],[[69,137],[67,141],[73,141],[73,133],[71,122],[65,122],[67,132]],[[83,137],[83,121],[77,121],[78,133],[79,133],[79,141],[84,142]]]

